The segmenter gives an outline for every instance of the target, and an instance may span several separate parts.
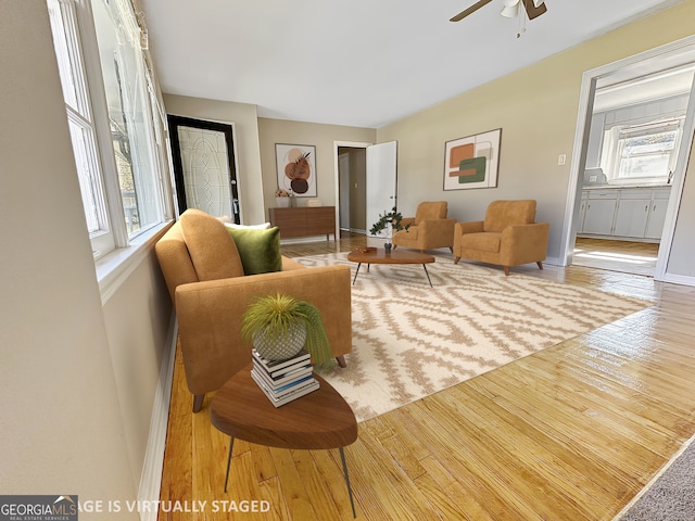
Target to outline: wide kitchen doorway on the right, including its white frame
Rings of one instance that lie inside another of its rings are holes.
[[[664,278],[693,140],[694,76],[695,38],[584,74],[564,264]]]

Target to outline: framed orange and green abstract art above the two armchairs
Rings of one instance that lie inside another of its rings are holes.
[[[495,188],[502,129],[446,141],[444,190]]]

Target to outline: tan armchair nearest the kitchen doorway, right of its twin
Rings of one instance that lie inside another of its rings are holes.
[[[454,264],[464,258],[504,266],[536,263],[543,269],[549,224],[534,223],[535,201],[493,201],[485,220],[456,223]]]

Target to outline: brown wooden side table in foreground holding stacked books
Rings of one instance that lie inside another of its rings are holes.
[[[357,420],[348,403],[314,373],[319,383],[316,391],[276,408],[251,378],[251,368],[252,364],[231,377],[211,403],[213,425],[230,437],[225,492],[235,437],[279,448],[339,448],[350,505],[356,516],[343,447],[357,440]]]

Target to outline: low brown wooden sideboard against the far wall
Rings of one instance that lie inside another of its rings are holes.
[[[336,233],[336,206],[269,208],[270,224],[280,228],[280,238]],[[333,236],[334,237],[334,236]]]

